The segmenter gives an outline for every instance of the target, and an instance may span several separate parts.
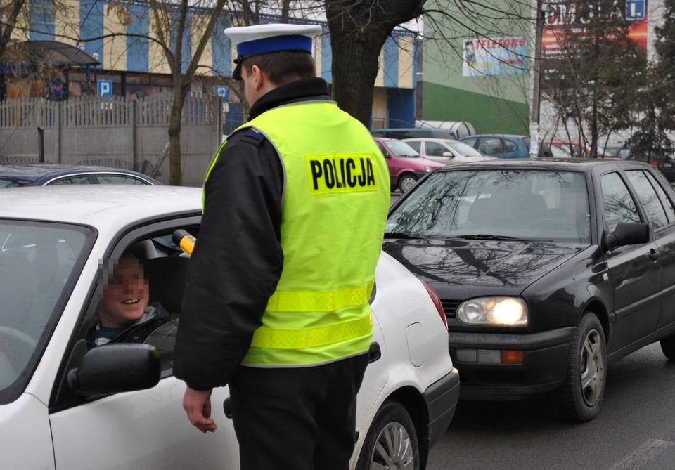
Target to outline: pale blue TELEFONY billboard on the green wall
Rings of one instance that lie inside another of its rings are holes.
[[[527,73],[527,39],[520,36],[464,39],[462,75],[522,75]]]

